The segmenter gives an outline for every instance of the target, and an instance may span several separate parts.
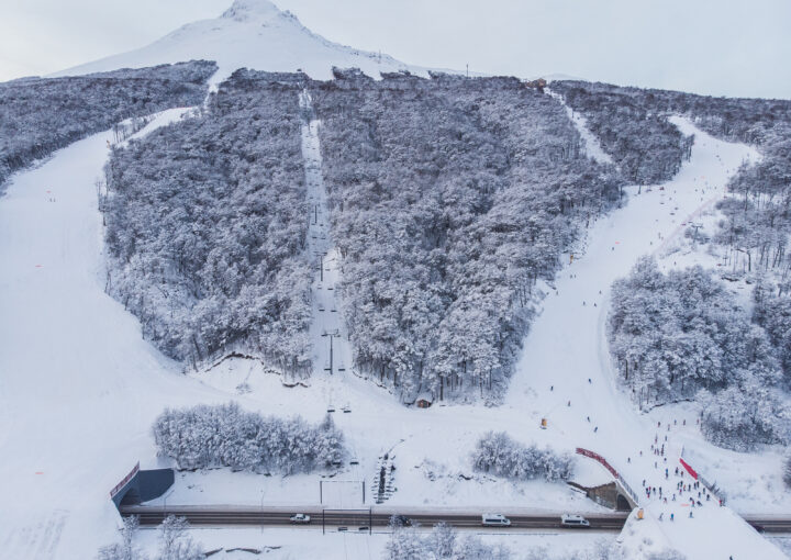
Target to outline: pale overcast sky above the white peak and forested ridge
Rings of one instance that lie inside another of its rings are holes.
[[[232,0],[2,0],[0,80],[144,46]],[[791,98],[791,0],[275,0],[421,66]]]

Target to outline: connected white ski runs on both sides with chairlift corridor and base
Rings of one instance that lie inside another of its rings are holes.
[[[137,136],[183,111],[158,115]],[[604,455],[638,492],[642,479],[669,486],[654,469],[648,448],[657,419],[665,423],[673,411],[640,415],[616,387],[604,338],[609,288],[637,257],[678,233],[681,216],[708,203],[706,197],[722,189],[743,158],[755,157],[746,147],[716,141],[683,120],[677,124],[698,136],[692,160],[664,190],[637,195],[632,189],[624,209],[592,226],[584,254],[576,255],[573,265],[557,279],[558,295],[545,299],[500,407],[438,403],[426,411],[410,410],[353,374],[342,311],[335,290],[328,289],[335,288],[341,271],[328,229],[316,121],[302,130],[308,197],[315,204],[309,250],[326,251],[326,257],[324,279],[316,278],[312,287],[314,376],[307,389],[285,388],[255,362],[239,365],[239,360],[227,360],[208,373],[182,376],[179,365],[145,343],[137,321],[104,293],[101,216],[93,183],[107,158],[110,132],[77,142],[41,167],[16,173],[0,199],[3,556],[90,558],[97,547],[114,540],[118,514],[108,491],[136,460],[144,468],[156,462],[149,435],[154,417],[165,406],[226,402],[239,374],[254,389],[249,395],[234,396],[247,408],[280,415],[299,412],[315,422],[327,404],[334,404],[336,423],[347,435],[352,453],[360,459],[359,466],[344,469],[341,477],[346,480],[370,480],[378,455],[394,447],[399,490],[386,505],[599,509],[560,484],[460,481],[459,472],[470,472],[469,451],[488,429],[504,429],[521,440],[553,447],[588,447]],[[321,335],[334,329],[341,336],[333,339],[330,376],[324,371],[328,337]],[[341,365],[346,371],[339,371]],[[341,412],[346,404],[349,414]],[[546,430],[538,428],[542,417],[548,418]],[[729,457],[702,443],[691,425],[693,418],[687,421],[688,426],[670,433],[671,471],[681,445]],[[626,457],[632,461],[626,462]],[[426,458],[433,461],[427,467]],[[755,463],[760,461],[756,457]],[[592,461],[579,459],[578,466],[580,479],[606,481]],[[428,480],[426,469],[435,471],[436,481]],[[181,482],[198,478],[204,482],[200,495]],[[226,488],[212,488],[223,478],[230,481]],[[288,503],[315,503],[317,480],[317,475],[261,480],[226,471],[189,473],[179,475],[169,503],[241,502],[234,492],[252,496],[246,500],[255,503],[277,503],[283,496],[291,499]],[[338,496],[344,505],[355,499]],[[661,504],[646,503],[646,508],[649,519],[631,523],[624,531],[626,545],[640,546],[640,538],[650,534],[656,542],[681,548],[690,560],[756,558],[756,553],[782,558],[768,541],[748,533],[751,529],[728,508],[695,508],[695,519],[680,518],[672,527],[653,520]],[[731,538],[723,539],[723,534]],[[702,549],[700,542],[709,548]],[[750,552],[743,553],[739,544]]]

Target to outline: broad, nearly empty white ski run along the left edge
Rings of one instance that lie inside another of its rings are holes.
[[[181,376],[104,293],[96,181],[111,139],[56,152],[0,199],[3,558],[92,558],[116,536],[108,492],[137,460],[155,460],[154,417],[226,399]]]

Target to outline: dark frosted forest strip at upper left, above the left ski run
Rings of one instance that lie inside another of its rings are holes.
[[[198,60],[0,83],[0,192],[9,175],[135,116],[201,102],[214,63]]]

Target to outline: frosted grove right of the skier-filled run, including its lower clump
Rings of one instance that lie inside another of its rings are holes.
[[[609,337],[621,381],[640,407],[698,396],[703,435],[733,449],[791,436],[778,359],[787,345],[773,345],[703,268],[665,275],[653,258],[640,259],[613,284]]]

